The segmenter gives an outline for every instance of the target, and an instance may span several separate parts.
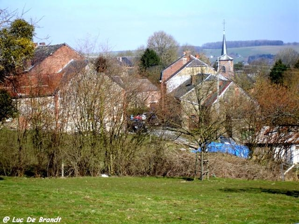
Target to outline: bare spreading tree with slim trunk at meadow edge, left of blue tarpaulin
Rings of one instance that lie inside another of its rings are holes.
[[[226,130],[224,128],[225,116],[219,113],[219,102],[214,104],[211,97],[217,94],[217,79],[208,80],[209,75],[198,74],[191,76],[182,87],[172,93],[171,103],[167,108],[171,109],[172,118],[167,118],[173,127],[181,134],[191,137],[195,147],[200,147],[196,152],[195,174],[197,176],[199,153],[201,161],[200,178],[207,175],[207,145],[218,139]],[[213,94],[211,94],[213,93]],[[212,96],[213,95],[213,96]],[[217,95],[216,95],[217,97]],[[168,99],[171,96],[168,96]],[[169,100],[168,100],[169,101]],[[175,108],[171,107],[175,105]],[[175,114],[175,115],[174,115]],[[179,128],[179,129],[177,129]],[[171,129],[171,128],[170,128]],[[204,164],[206,163],[206,164]]]

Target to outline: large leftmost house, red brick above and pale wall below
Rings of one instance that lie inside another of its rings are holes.
[[[43,120],[54,120],[51,123],[53,127],[57,126],[58,90],[65,83],[64,74],[71,64],[83,59],[80,53],[65,43],[41,43],[36,46],[34,56],[22,74],[6,77],[7,82],[1,88],[6,89],[17,103],[20,128],[30,126],[29,120],[37,116],[39,119],[43,116]],[[12,122],[11,125],[16,127],[17,123]]]

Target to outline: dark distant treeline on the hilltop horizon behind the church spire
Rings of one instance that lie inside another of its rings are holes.
[[[284,45],[282,40],[240,40],[240,41],[226,41],[228,48],[232,47],[253,47],[264,45]],[[204,49],[221,49],[222,41],[205,43],[201,46]]]

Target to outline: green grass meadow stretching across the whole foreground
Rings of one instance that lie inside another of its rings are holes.
[[[59,217],[63,224],[295,224],[298,197],[298,182],[3,177],[0,223]]]

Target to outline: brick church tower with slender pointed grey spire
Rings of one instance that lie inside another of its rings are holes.
[[[234,77],[234,59],[226,53],[225,22],[223,21],[223,40],[221,56],[218,58],[218,72],[228,79]]]

